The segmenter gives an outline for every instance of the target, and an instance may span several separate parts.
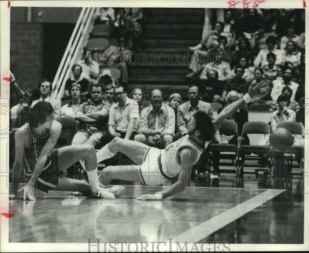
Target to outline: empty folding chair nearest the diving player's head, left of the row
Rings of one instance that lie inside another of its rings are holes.
[[[239,137],[237,134],[237,123],[234,120],[225,119],[222,125],[219,127],[219,132],[221,135],[236,135],[237,137]],[[238,144],[210,144],[209,151],[209,168],[211,167],[212,155],[214,151],[228,152],[228,154],[220,154],[220,159],[231,160],[235,171],[237,172]]]

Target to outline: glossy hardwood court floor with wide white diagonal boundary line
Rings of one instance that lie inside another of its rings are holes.
[[[294,189],[299,187],[294,184]],[[303,194],[284,190],[190,187],[190,198],[140,201],[127,187],[115,200],[38,191],[37,201],[10,200],[9,242],[303,243]]]

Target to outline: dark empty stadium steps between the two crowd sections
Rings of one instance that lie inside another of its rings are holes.
[[[148,44],[147,49],[140,52],[166,53],[167,49],[173,49],[170,61],[176,62],[176,55],[181,58],[189,53],[188,61],[191,60],[193,52],[188,49],[200,43],[204,25],[204,9],[201,8],[151,8],[148,12],[146,29],[143,32],[143,40]],[[151,59],[151,58],[150,58]],[[163,62],[164,57],[160,58]],[[149,60],[149,62],[151,62]],[[160,64],[156,59],[155,65],[133,65],[129,76],[129,90],[142,88],[148,95],[154,88],[163,91],[164,100],[172,93],[180,93],[187,97],[188,65],[186,64]]]

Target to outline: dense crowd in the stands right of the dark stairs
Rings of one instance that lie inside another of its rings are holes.
[[[235,90],[242,96],[250,84],[260,82],[269,86],[269,94],[254,103],[270,104],[275,111],[277,97],[290,87],[295,105],[304,96],[304,37],[300,10],[205,10],[202,41],[189,48],[199,61],[191,61],[186,77],[200,86],[208,102],[223,106],[228,92]],[[205,82],[209,77],[211,81]]]

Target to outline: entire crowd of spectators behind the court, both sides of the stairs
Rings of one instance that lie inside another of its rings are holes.
[[[110,60],[111,53],[129,53],[142,45],[142,13],[140,8],[118,8],[116,13],[112,8],[98,9],[94,17],[96,24],[110,24],[111,35],[118,38],[118,46],[110,45],[105,50],[103,62]],[[216,15],[213,30],[207,29]],[[72,144],[88,143],[98,148],[120,137],[166,148],[188,134],[194,124],[194,112],[202,110],[213,117],[210,103],[224,107],[241,98],[251,85],[260,84],[269,92],[250,105],[269,104],[273,111],[270,125],[275,128],[283,120],[294,120],[295,111],[301,106],[298,103],[304,97],[304,27],[298,10],[205,10],[201,44],[190,49],[199,56],[210,53],[210,61],[190,65],[187,78],[193,78],[195,83],[188,87],[188,97],[166,94],[165,98],[169,98],[165,103],[164,91],[153,89],[145,96],[141,88],[135,87],[131,87],[134,89],[129,95],[128,70],[123,64],[127,59],[116,59],[114,67],[121,75],[114,79],[109,69],[99,75],[99,64],[84,50],[83,58],[72,66],[72,75],[66,80],[62,100],[67,103],[62,108],[59,101],[50,97],[52,84],[43,80],[39,84],[40,98],[32,103],[21,98],[11,109],[11,117],[15,119],[20,108],[31,108],[44,100],[53,106],[55,118],[73,117],[80,122],[81,129]],[[127,45],[131,46],[127,48]],[[182,104],[182,101],[187,102]],[[248,121],[248,108],[239,110],[231,119],[239,125],[240,135]],[[241,143],[249,144],[249,139],[243,138]],[[221,142],[219,132],[213,142]],[[235,136],[229,140],[229,143],[237,142]],[[196,173],[205,171],[208,155],[205,148],[194,167]],[[216,171],[218,163],[218,154],[214,154]]]

